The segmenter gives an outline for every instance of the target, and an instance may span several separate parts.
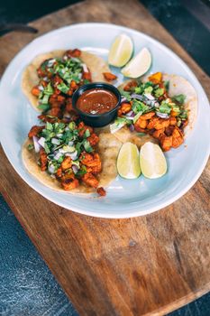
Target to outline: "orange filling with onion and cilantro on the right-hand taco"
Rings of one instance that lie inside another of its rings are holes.
[[[122,104],[111,131],[114,133],[127,125],[131,132],[157,139],[165,152],[182,144],[189,116],[186,96],[169,97],[169,84],[157,72],[145,82],[132,80],[123,85]]]

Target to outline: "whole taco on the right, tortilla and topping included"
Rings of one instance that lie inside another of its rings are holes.
[[[157,72],[119,87],[122,104],[111,132],[121,142],[178,148],[196,122],[196,90],[184,78]],[[140,140],[141,138],[141,140]]]

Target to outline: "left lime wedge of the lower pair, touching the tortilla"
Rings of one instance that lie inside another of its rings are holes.
[[[136,144],[123,144],[118,154],[116,167],[118,173],[125,179],[135,179],[140,176],[140,158]]]

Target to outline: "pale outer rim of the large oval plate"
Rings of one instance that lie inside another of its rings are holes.
[[[73,23],[71,25],[66,25],[66,26],[60,27],[58,29],[52,30],[50,32],[41,34],[41,36],[38,36],[37,38],[33,39],[32,42],[29,42],[27,45],[25,45],[21,51],[18,51],[18,53],[14,56],[13,60],[11,60],[9,62],[9,64],[7,65],[7,67],[6,67],[5,71],[4,71],[4,74],[3,74],[3,76],[2,76],[2,78],[0,80],[0,92],[1,92],[1,88],[2,88],[2,82],[4,82],[5,75],[8,72],[8,70],[13,67],[14,62],[15,62],[16,59],[19,58],[19,55],[21,55],[24,50],[28,49],[28,47],[33,45],[34,42],[37,42],[37,41],[39,42],[44,37],[49,36],[49,34],[53,35],[53,33],[60,33],[60,32],[63,32],[65,30],[68,30],[68,29],[78,28],[78,27],[86,28],[87,26],[88,27],[93,27],[93,26],[94,27],[97,27],[97,26],[107,27],[108,26],[108,27],[114,27],[114,28],[119,29],[119,30],[124,31],[124,32],[132,32],[132,33],[141,34],[145,39],[149,39],[150,42],[155,43],[156,45],[160,46],[160,48],[162,48],[164,51],[168,51],[170,55],[172,55],[174,58],[176,58],[178,60],[178,62],[180,62],[182,64],[182,66],[187,71],[189,76],[193,77],[193,79],[196,80],[196,83],[198,84],[199,88],[201,89],[203,97],[205,97],[205,99],[206,99],[206,103],[209,104],[208,98],[207,98],[207,96],[205,94],[205,90],[201,86],[199,80],[196,78],[196,75],[194,74],[194,72],[187,66],[187,63],[184,60],[182,60],[167,45],[161,43],[160,41],[154,39],[153,37],[151,37],[150,35],[147,35],[146,33],[142,33],[142,32],[139,32],[138,30],[135,30],[135,29],[132,29],[132,28],[128,28],[128,27],[125,27],[123,25],[113,24],[113,23]],[[210,108],[208,110],[208,115],[210,116]],[[4,140],[1,137],[1,135],[0,135],[0,138],[1,138],[1,144],[2,144],[3,150],[5,152],[5,155],[6,155],[7,159],[8,159],[8,161],[9,161],[9,163],[12,164],[15,172],[17,172],[19,174],[19,176],[23,179],[23,181],[25,181],[34,191],[37,191],[39,194],[41,194],[41,196],[43,196],[45,199],[52,201],[53,203],[59,205],[60,207],[68,209],[68,207],[67,207],[67,205],[65,203],[62,203],[60,201],[58,202],[56,199],[53,199],[53,197],[51,197],[51,196],[49,198],[48,194],[45,194],[45,192],[41,191],[40,188],[36,188],[36,186],[33,185],[32,182],[28,181],[23,174],[20,174],[20,172],[17,171],[16,167],[14,166],[13,160],[10,159],[11,158],[10,154],[7,154],[6,145],[5,145]],[[96,213],[96,212],[88,210],[88,209],[78,209],[77,207],[73,207],[73,209],[69,209],[69,210],[77,212],[79,214],[92,216],[92,217],[96,217],[96,218],[110,218],[110,219],[111,218],[133,218],[133,217],[138,217],[138,216],[144,216],[144,215],[147,215],[147,214],[151,214],[151,213],[153,213],[155,211],[158,211],[160,209],[163,209],[163,208],[169,206],[170,204],[172,204],[176,200],[180,199],[182,196],[184,196],[187,193],[187,191],[189,191],[193,187],[193,185],[196,183],[196,181],[199,179],[201,173],[205,169],[205,165],[206,165],[206,163],[208,161],[209,154],[210,154],[210,143],[209,143],[208,148],[206,149],[206,153],[205,153],[205,156],[204,156],[204,159],[203,159],[203,163],[200,165],[199,169],[197,169],[197,171],[195,172],[192,180],[189,181],[189,183],[185,187],[185,189],[183,189],[182,191],[179,191],[179,193],[177,193],[173,198],[167,200],[167,202],[160,203],[158,206],[151,207],[148,210],[146,210],[146,209],[145,210],[138,210],[137,208],[130,209],[130,210],[128,210],[127,214],[122,214],[122,215],[121,214],[116,214],[116,211],[113,211],[113,213],[105,213],[104,210],[101,210],[100,213]]]

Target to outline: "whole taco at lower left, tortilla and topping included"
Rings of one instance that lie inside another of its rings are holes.
[[[23,144],[23,164],[41,183],[56,191],[105,195],[117,175],[115,161],[122,145],[114,135],[80,122],[33,126]]]

